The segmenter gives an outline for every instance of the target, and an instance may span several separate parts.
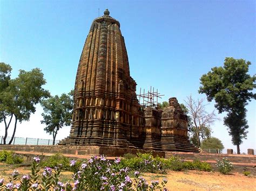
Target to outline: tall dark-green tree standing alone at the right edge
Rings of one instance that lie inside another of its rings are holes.
[[[256,98],[252,90],[256,87],[256,76],[248,74],[251,62],[244,59],[225,58],[223,67],[214,67],[201,76],[199,93],[206,94],[208,101],[215,101],[219,113],[227,112],[224,125],[237,145],[240,154],[242,139],[247,137],[246,109],[247,101]]]

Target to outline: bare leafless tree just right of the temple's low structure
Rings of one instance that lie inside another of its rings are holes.
[[[218,119],[214,110],[210,113],[206,111],[204,99],[195,101],[192,96],[187,97],[185,105],[181,106],[185,114],[188,116],[188,135],[191,142],[200,147],[201,140],[211,137],[210,125]]]

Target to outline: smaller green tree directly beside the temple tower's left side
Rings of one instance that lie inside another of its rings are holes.
[[[42,124],[46,124],[44,130],[52,134],[53,145],[55,145],[56,135],[63,126],[69,126],[72,119],[73,91],[68,95],[62,94],[43,100],[41,105],[44,109]]]

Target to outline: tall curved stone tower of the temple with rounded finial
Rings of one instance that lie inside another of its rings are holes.
[[[80,57],[70,136],[60,144],[133,146],[143,124],[118,20],[93,20]],[[130,145],[128,145],[130,144]]]

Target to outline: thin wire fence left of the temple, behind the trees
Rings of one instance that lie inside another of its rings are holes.
[[[11,140],[11,137],[6,137],[6,144]],[[52,145],[52,139],[39,139],[39,138],[24,138],[24,137],[14,137],[12,140],[12,145]],[[59,140],[55,140],[55,144],[59,143]],[[4,136],[1,138],[1,144],[4,144]]]

